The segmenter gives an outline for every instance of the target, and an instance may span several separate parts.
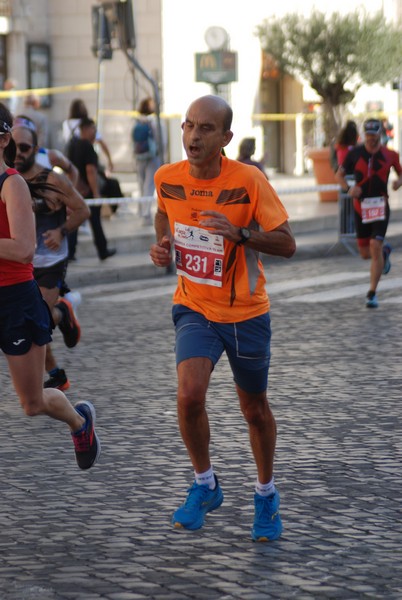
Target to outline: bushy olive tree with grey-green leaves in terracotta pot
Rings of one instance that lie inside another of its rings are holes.
[[[381,13],[291,13],[265,19],[256,35],[281,73],[307,82],[322,98],[326,143],[361,85],[401,76],[402,29]]]

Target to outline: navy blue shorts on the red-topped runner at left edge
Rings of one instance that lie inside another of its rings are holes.
[[[0,348],[5,354],[26,354],[32,344],[52,341],[53,319],[36,281],[0,286]]]

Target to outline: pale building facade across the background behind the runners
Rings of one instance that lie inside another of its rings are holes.
[[[274,9],[277,16],[291,11],[308,13],[314,1],[285,0],[279,7],[260,0],[249,0],[247,7],[237,7],[231,0],[204,0],[202,5],[194,0],[131,2],[135,49],[125,53],[112,38],[112,57],[99,60],[93,51],[93,7],[113,2],[0,0],[1,87],[4,89],[6,79],[14,81],[16,92],[21,94],[20,110],[24,90],[51,88],[41,97],[42,110],[51,125],[52,146],[63,147],[61,123],[68,116],[71,101],[82,98],[90,115],[97,118],[116,169],[133,169],[133,110],[143,97],[153,95],[152,80],[157,84],[166,121],[169,160],[182,157],[179,126],[188,104],[198,96],[218,92],[234,109],[235,135],[228,147],[229,156],[237,155],[243,137],[253,136],[257,139],[257,158],[264,156],[267,165],[283,172],[303,171],[304,140],[298,135],[296,119],[278,120],[272,115],[302,114],[306,103],[314,102],[314,94],[291,78],[279,86],[269,70],[267,75],[255,30]],[[334,9],[342,12],[359,7],[359,0],[338,0]],[[364,8],[382,10],[392,19],[402,18],[402,0],[366,0]],[[326,9],[332,10],[331,3],[322,0],[319,10]],[[218,86],[197,81],[197,54],[213,53],[216,44],[218,51],[236,56],[235,80]],[[364,111],[370,100],[381,103],[390,114],[398,147],[400,92],[391,86],[362,90],[352,107],[356,114]],[[271,119],[265,120],[267,113]]]

